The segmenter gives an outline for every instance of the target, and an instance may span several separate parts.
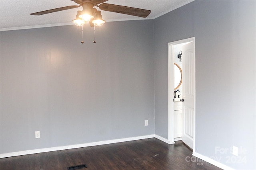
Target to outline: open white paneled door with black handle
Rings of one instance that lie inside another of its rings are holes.
[[[195,95],[195,59],[194,42],[186,45],[182,53],[182,96],[183,133],[182,141],[193,149],[194,138],[194,95]]]

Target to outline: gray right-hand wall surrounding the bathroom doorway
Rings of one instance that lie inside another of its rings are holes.
[[[154,20],[156,135],[168,139],[167,43],[196,37],[195,151],[256,169],[255,28],[255,1],[194,1]],[[232,157],[233,145],[246,151]]]

